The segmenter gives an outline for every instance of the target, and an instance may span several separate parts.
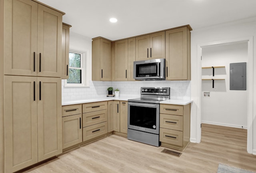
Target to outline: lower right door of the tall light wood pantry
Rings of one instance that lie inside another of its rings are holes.
[[[38,161],[62,153],[61,79],[38,77]]]

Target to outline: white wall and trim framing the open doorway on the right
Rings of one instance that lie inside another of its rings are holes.
[[[192,26],[193,28],[193,26]],[[191,33],[191,130],[190,141],[201,139],[201,55],[200,47],[230,40],[250,40],[248,54],[248,95],[250,119],[248,119],[248,151],[256,154],[256,19],[226,23],[218,26],[193,30]],[[251,59],[253,60],[251,60]],[[250,62],[250,63],[249,63]],[[252,135],[254,134],[254,136]]]

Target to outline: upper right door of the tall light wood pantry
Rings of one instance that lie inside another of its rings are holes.
[[[61,77],[62,14],[38,4],[38,76]]]

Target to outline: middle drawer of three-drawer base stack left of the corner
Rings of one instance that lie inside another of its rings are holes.
[[[83,113],[83,127],[108,121],[108,110]]]

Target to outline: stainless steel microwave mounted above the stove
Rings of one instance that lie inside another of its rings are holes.
[[[133,62],[135,80],[165,80],[165,59],[154,59]]]

